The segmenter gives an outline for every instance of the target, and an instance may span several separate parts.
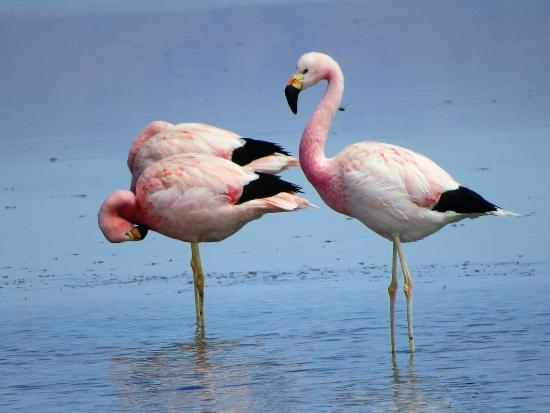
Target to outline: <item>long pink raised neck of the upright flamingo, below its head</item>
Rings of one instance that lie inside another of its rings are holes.
[[[327,68],[325,79],[325,94],[311,115],[300,141],[300,165],[314,186],[322,185],[328,173],[325,141],[344,93],[344,76],[337,64]]]

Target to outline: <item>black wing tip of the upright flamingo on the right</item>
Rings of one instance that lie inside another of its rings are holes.
[[[498,209],[498,206],[465,186],[443,192],[439,201],[432,207],[433,211],[452,211],[460,214],[484,214]]]

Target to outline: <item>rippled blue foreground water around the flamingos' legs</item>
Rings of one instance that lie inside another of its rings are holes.
[[[387,268],[210,275],[204,337],[188,277],[7,287],[0,396],[9,411],[547,410],[546,269],[415,270],[414,359],[401,295],[389,353]]]

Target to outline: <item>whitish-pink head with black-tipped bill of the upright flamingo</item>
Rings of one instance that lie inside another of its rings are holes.
[[[285,96],[294,114],[298,112],[298,95],[321,80],[328,79],[330,68],[338,65],[332,57],[324,53],[309,52],[296,64],[296,73],[292,75],[285,88]]]

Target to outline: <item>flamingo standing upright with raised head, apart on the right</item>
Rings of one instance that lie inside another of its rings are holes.
[[[363,141],[345,147],[332,158],[325,142],[344,93],[344,75],[329,55],[302,55],[285,87],[294,114],[298,95],[322,80],[325,93],[309,118],[300,140],[300,166],[323,201],[335,211],[356,218],[393,243],[390,296],[391,351],[395,350],[394,309],[397,291],[397,256],[404,278],[407,302],[409,351],[415,352],[412,297],[413,282],[402,249],[465,218],[483,215],[518,216],[462,186],[428,157],[397,145]]]

